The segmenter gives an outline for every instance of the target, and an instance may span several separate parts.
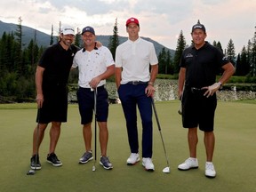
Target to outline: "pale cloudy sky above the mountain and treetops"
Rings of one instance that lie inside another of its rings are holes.
[[[0,2],[0,20],[58,34],[59,23],[82,30],[95,29],[96,36],[113,35],[117,19],[119,36],[127,36],[125,22],[140,21],[140,36],[175,50],[182,31],[191,43],[191,28],[200,20],[206,40],[220,41],[226,49],[232,39],[236,54],[252,41],[256,31],[256,0],[7,0]]]

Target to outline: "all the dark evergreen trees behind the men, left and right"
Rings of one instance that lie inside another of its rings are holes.
[[[61,22],[59,25],[59,32]],[[18,20],[17,28],[11,33],[4,32],[0,38],[0,102],[4,98],[14,101],[34,100],[36,95],[35,71],[38,60],[46,47],[36,44],[36,30],[29,44],[22,42],[22,20]],[[57,43],[58,36],[52,34],[49,45]],[[75,44],[83,46],[81,31],[76,29]],[[191,43],[192,44],[192,43]],[[220,42],[214,41],[214,46],[220,48],[229,60],[236,67],[236,76],[256,76],[256,27],[254,36],[248,41],[247,46],[243,47],[242,52],[236,56],[235,45],[232,39],[229,40],[227,48],[222,49]],[[113,27],[113,36],[109,37],[108,48],[115,59],[116,47],[119,45],[118,22],[117,18]],[[159,74],[178,76],[180,71],[179,63],[183,50],[188,47],[182,30],[177,40],[177,47],[174,55],[163,48],[158,54]],[[255,78],[252,78],[255,80]],[[77,72],[71,72],[69,83],[77,83]],[[255,83],[255,82],[254,82]]]

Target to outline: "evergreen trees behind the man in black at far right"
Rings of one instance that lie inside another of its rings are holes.
[[[191,42],[191,44],[193,44],[193,42]],[[256,76],[256,27],[252,40],[248,40],[247,46],[244,46],[242,51],[238,53],[237,56],[232,39],[228,41],[227,48],[224,50],[222,49],[220,41],[213,41],[212,45],[218,47],[220,51],[223,52],[226,57],[228,57],[228,60],[230,60],[235,66],[235,76],[247,76],[248,78]],[[178,74],[180,70],[180,57],[186,47],[188,47],[188,44],[186,43],[186,39],[181,30],[173,58],[170,52],[166,52],[165,48],[163,48],[163,50],[159,53],[159,73],[171,75]],[[256,83],[255,78],[252,79],[254,80],[254,83]]]

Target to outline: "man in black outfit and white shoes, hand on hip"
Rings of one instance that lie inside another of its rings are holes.
[[[217,107],[216,93],[234,74],[235,68],[220,50],[208,42],[206,30],[199,20],[192,28],[193,45],[184,50],[180,60],[179,97],[182,98],[182,124],[188,128],[189,158],[179,164],[179,170],[198,167],[196,145],[197,127],[204,132],[206,150],[205,176],[214,178],[212,164],[215,137],[213,133],[214,113]],[[216,83],[219,69],[223,74]]]

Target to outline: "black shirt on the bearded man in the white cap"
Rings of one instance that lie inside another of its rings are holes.
[[[79,48],[73,44],[65,50],[60,42],[45,50],[38,64],[44,68],[43,86],[68,83],[73,58],[78,50]]]

